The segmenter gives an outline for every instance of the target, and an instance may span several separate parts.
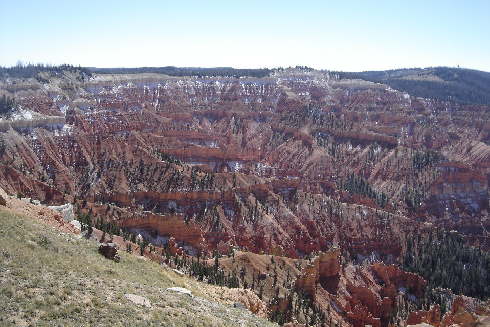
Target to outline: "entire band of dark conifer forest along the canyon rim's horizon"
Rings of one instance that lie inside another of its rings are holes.
[[[297,66],[296,68],[305,68]],[[280,68],[278,68],[280,69]],[[0,67],[0,78],[36,78],[39,82],[48,82],[48,72],[68,70],[79,72],[79,79],[99,74],[137,74],[158,73],[169,76],[227,76],[227,77],[266,77],[272,69],[237,69],[232,67],[117,67],[96,68],[81,67],[72,64],[23,63],[16,66]],[[41,74],[44,73],[44,74]],[[410,95],[451,101],[459,104],[475,104],[490,106],[490,73],[451,67],[435,68],[402,68],[387,71],[341,72],[332,71],[339,79],[363,79],[375,83],[383,83],[391,88],[404,91]]]

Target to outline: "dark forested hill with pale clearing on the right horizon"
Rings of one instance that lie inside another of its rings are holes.
[[[387,71],[332,72],[339,79],[363,79],[422,98],[490,106],[490,73],[465,68],[403,68]]]

